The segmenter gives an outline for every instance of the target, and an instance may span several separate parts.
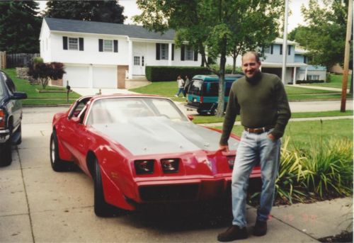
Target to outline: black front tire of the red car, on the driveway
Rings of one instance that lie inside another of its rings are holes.
[[[115,211],[118,208],[115,208],[113,205],[110,205],[105,202],[105,196],[103,193],[103,185],[102,185],[102,176],[100,165],[98,164],[97,159],[95,158],[95,171],[93,174],[93,208],[95,210],[95,214],[98,217],[112,217],[115,214]]]

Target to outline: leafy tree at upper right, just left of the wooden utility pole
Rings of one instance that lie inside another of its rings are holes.
[[[346,40],[346,19],[348,0],[309,1],[309,7],[302,6],[307,26],[299,26],[290,33],[290,38],[309,50],[311,64],[325,66],[328,70],[334,64],[343,64]]]

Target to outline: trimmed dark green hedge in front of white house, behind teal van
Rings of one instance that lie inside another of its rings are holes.
[[[198,74],[211,74],[207,67],[171,67],[171,66],[147,66],[145,76],[149,81],[176,81],[178,75],[184,79],[187,75],[190,79]]]

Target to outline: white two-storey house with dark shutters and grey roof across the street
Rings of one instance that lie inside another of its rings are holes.
[[[199,66],[200,55],[188,45],[176,48],[175,32],[164,35],[142,26],[43,18],[40,57],[62,62],[57,85],[125,88],[125,81],[145,75],[145,66]],[[199,60],[199,61],[198,61]]]

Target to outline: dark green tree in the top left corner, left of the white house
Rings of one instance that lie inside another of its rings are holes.
[[[0,2],[0,50],[38,53],[41,18],[35,1]]]

